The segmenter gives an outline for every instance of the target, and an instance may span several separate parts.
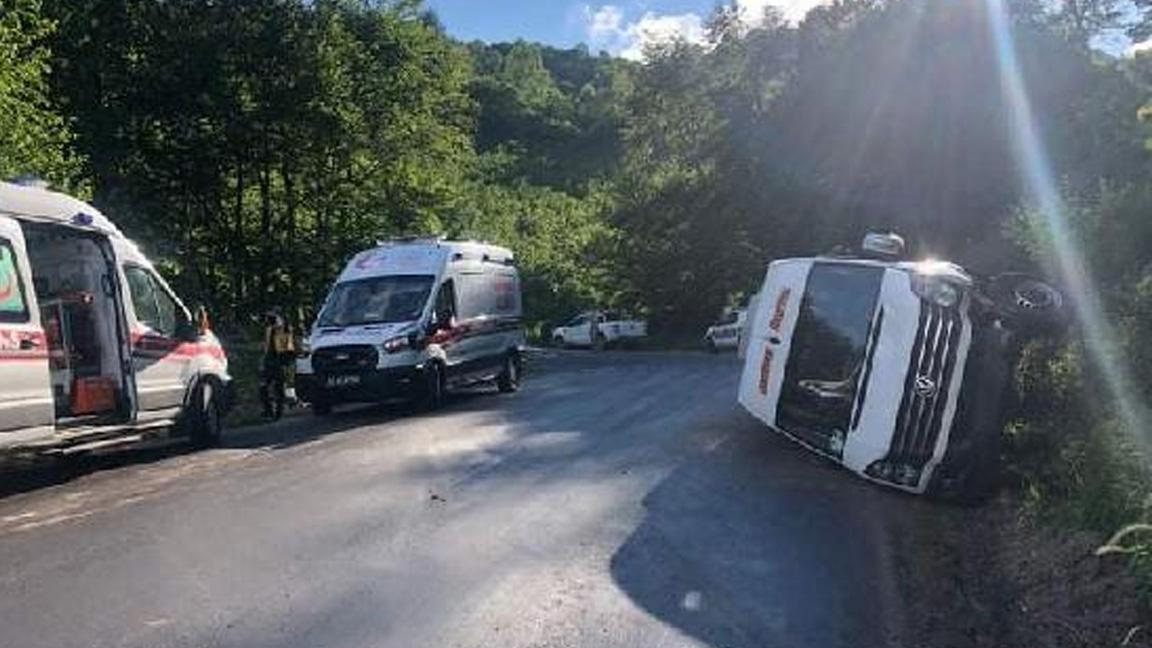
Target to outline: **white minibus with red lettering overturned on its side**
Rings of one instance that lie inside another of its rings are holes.
[[[859,258],[772,263],[749,307],[740,402],[871,481],[979,499],[1021,342],[1059,330],[1063,296],[902,250],[899,236],[870,235]]]

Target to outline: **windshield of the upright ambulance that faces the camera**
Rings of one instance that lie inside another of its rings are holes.
[[[418,274],[336,284],[318,323],[320,326],[356,326],[417,319],[433,281],[433,277]]]

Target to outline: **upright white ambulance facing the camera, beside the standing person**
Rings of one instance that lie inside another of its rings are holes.
[[[296,393],[317,414],[341,402],[419,400],[452,387],[520,386],[524,325],[511,251],[442,239],[357,254],[320,309],[296,363]]]

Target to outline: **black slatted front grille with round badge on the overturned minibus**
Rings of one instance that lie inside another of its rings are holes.
[[[919,482],[943,428],[962,329],[958,308],[923,302],[896,429],[888,455],[867,470],[873,476],[910,487]]]

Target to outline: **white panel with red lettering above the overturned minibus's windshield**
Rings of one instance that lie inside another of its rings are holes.
[[[799,316],[804,286],[812,270],[809,259],[788,259],[768,266],[755,310],[748,312],[744,370],[740,404],[768,425],[776,424],[776,406]]]

